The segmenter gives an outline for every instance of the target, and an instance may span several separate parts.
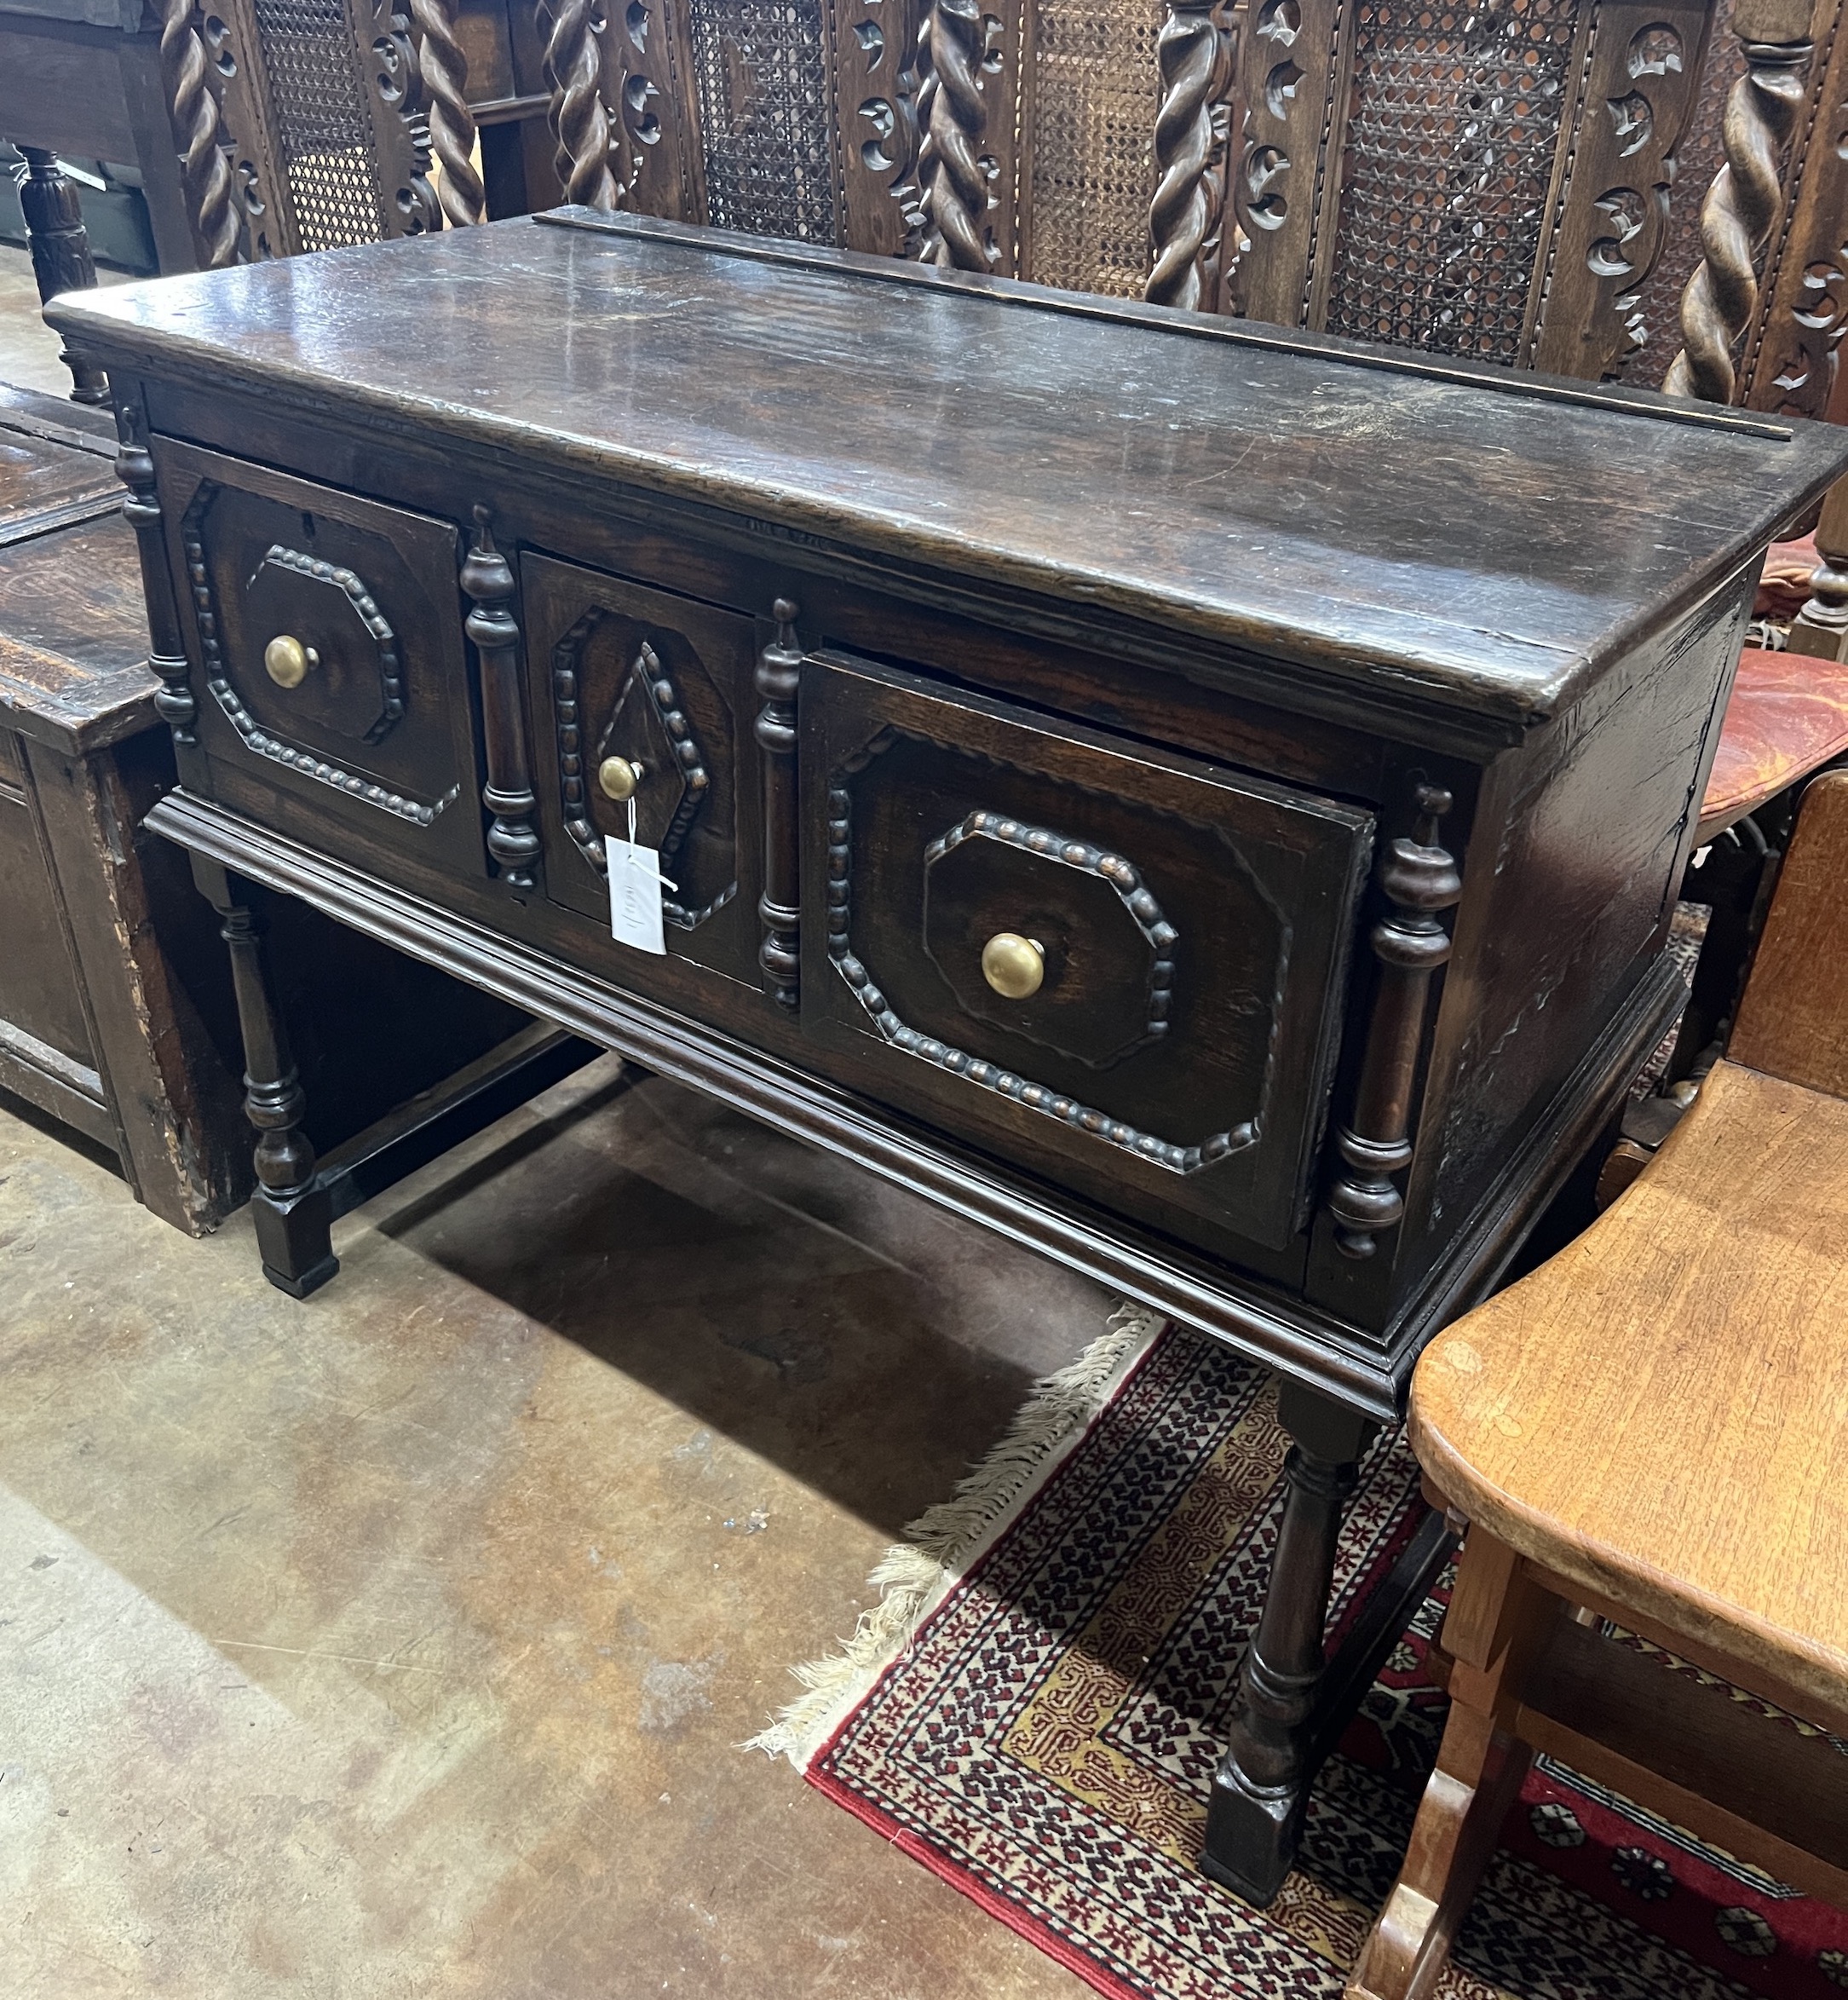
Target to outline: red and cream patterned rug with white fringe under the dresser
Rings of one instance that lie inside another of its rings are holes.
[[[810,1696],[760,1742],[1104,1994],[1338,1994],[1442,1734],[1424,1656],[1448,1578],[1326,1766],[1278,1900],[1254,1912],[1210,1884],[1194,1856],[1286,1440],[1268,1378],[1224,1348],[1136,1314],[1114,1338],[1088,1404],[1080,1368],[1060,1414],[1002,1448],[1012,1470],[976,1474],[920,1524],[934,1560],[894,1552],[858,1650],[804,1670]],[[972,1506],[980,1546],[958,1562]],[[1416,1466],[1382,1440],[1342,1538],[1340,1624],[1414,1520]],[[1450,2000],[1844,1990],[1848,1918],[1548,1760],[1440,1986]]]

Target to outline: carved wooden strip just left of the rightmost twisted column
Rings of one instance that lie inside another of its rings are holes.
[[[1584,80],[1558,232],[1548,258],[1534,366],[1610,380],[1666,366],[1674,316],[1652,324],[1648,280],[1668,240],[1674,198],[1700,200],[1678,168],[1700,86],[1708,10],[1694,0],[1606,4]]]

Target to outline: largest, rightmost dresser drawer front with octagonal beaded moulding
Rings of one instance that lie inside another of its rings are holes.
[[[834,654],[800,756],[804,1030],[1098,1200],[1282,1248],[1370,814]]]

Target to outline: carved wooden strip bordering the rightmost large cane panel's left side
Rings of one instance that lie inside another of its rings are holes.
[[[1302,326],[1352,0],[1250,0],[1226,168],[1224,310]]]

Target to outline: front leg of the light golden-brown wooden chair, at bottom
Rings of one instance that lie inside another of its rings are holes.
[[[1346,2000],[1426,2000],[1436,1992],[1502,1820],[1534,1752],[1512,1734],[1522,1678],[1560,1614],[1520,1558],[1470,1532],[1444,1618],[1450,1722],[1424,1788],[1406,1864],[1348,1980]]]

